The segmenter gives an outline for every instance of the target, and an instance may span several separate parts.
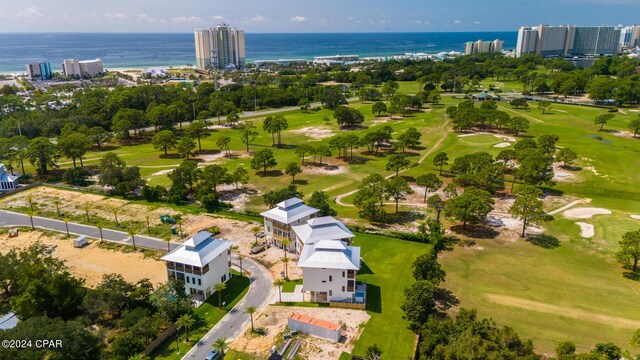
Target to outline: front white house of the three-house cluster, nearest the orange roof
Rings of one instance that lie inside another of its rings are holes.
[[[302,288],[313,302],[356,302],[356,273],[360,248],[342,241],[320,240],[305,244],[298,260]]]

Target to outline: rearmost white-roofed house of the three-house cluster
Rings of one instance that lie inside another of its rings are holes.
[[[264,232],[271,238],[275,245],[282,247],[280,241],[291,240],[290,251],[296,251],[296,241],[291,232],[291,226],[304,224],[307,220],[315,217],[320,211],[302,203],[298,198],[287,199],[276,204],[276,207],[260,213],[264,217]],[[297,250],[300,252],[300,250]]]

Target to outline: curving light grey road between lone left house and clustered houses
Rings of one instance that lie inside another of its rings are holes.
[[[249,306],[257,307],[258,311],[253,315],[255,320],[256,315],[269,303],[273,291],[273,278],[269,271],[249,258],[242,261],[242,268],[251,274],[249,292],[216,326],[209,330],[200,342],[185,354],[183,360],[204,359],[219,338],[226,338],[227,343],[230,343],[250,325],[249,315],[244,313],[244,309]]]

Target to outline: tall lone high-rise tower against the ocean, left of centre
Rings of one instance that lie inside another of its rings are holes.
[[[244,67],[244,30],[220,24],[215,28],[196,29],[194,40],[198,69]]]

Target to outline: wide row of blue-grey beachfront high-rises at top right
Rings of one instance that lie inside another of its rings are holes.
[[[523,26],[518,30],[516,56],[616,55],[621,51],[620,42],[621,28],[614,26]]]

